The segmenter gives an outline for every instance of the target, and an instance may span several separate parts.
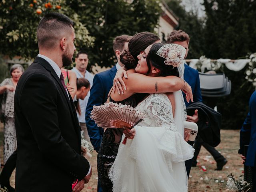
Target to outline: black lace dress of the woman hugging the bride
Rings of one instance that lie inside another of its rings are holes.
[[[130,105],[133,108],[142,101],[146,94],[134,94],[122,101],[114,101],[109,97],[110,102]],[[118,147],[123,135],[123,129],[106,129],[97,156],[98,178],[104,192],[112,192],[113,184],[108,177],[110,167],[116,159]]]

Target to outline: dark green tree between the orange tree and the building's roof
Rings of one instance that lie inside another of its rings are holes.
[[[89,53],[90,64],[113,66],[116,57],[112,42],[116,36],[154,32],[161,9],[158,0],[73,0],[70,6],[95,37],[95,46],[80,46]]]

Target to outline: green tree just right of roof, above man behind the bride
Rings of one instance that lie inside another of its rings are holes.
[[[187,59],[199,58],[204,54],[204,18],[198,18],[196,12],[187,12],[182,6],[182,0],[168,0],[170,9],[178,16],[179,25],[176,30],[182,29],[190,36],[189,52]]]

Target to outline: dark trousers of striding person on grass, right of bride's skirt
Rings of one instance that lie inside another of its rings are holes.
[[[212,147],[209,144],[207,144],[206,142],[204,142],[198,135],[196,137],[196,142],[194,145],[195,152],[194,152],[194,157],[192,158],[193,165],[196,165],[196,159],[200,152],[201,146],[203,146],[206,150],[208,150],[208,152],[210,152],[210,154],[213,156],[213,158],[216,162],[221,162],[222,160],[225,159],[224,156],[222,156],[214,147]]]

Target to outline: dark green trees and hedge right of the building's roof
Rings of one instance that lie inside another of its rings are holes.
[[[180,18],[177,29],[190,36],[188,59],[243,59],[256,51],[255,0],[204,0],[205,16],[186,11],[181,0],[166,2]],[[216,103],[222,114],[222,128],[240,129],[248,113],[248,104],[255,87],[245,79],[247,66],[238,72],[222,67],[232,82],[231,94],[221,98],[203,98]],[[214,82],[213,82],[214,83]]]

